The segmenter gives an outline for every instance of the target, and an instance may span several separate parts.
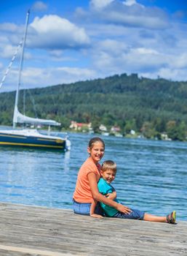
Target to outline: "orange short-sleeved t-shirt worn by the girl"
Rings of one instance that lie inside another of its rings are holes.
[[[95,173],[97,181],[100,179],[100,165],[95,165],[92,158],[89,157],[83,165],[78,173],[77,181],[76,181],[76,188],[73,194],[73,199],[76,200],[78,203],[92,203],[93,197],[92,192],[89,187],[89,181],[87,175],[89,173]]]

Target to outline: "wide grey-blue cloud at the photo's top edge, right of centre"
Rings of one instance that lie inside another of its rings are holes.
[[[85,12],[77,12],[84,17]],[[105,21],[122,26],[134,26],[148,29],[167,29],[170,26],[167,13],[156,7],[145,7],[135,0],[92,0],[87,19]]]

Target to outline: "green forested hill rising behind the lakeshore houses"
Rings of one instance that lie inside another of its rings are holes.
[[[0,94],[0,124],[12,124],[14,97],[15,92]],[[73,120],[92,122],[96,131],[104,124],[108,129],[119,126],[126,133],[141,131],[146,137],[172,131],[173,139],[186,138],[187,82],[122,74],[26,90],[25,101],[25,114],[55,118],[65,128]],[[23,91],[19,108],[23,113]]]

